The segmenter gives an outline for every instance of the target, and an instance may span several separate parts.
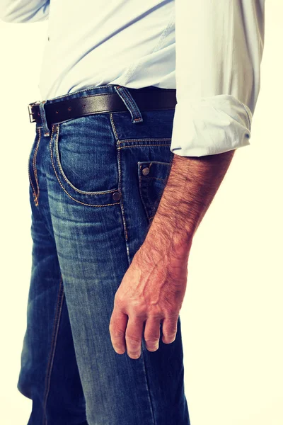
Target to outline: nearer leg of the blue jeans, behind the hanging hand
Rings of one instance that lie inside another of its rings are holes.
[[[97,114],[57,124],[48,192],[89,425],[189,424],[180,334],[137,360],[115,353],[114,297],[161,198],[173,111]],[[149,170],[149,171],[148,171]]]

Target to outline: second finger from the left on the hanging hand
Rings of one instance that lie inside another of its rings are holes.
[[[129,316],[126,329],[127,354],[130,358],[139,358],[141,355],[141,338],[144,330],[144,319]]]

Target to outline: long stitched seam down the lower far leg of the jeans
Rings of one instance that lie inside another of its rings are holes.
[[[64,301],[64,287],[62,284],[62,276],[60,278],[59,283],[59,291],[57,296],[57,305],[54,317],[53,331],[52,331],[52,341],[50,347],[50,356],[47,363],[46,375],[45,375],[45,395],[43,400],[43,420],[42,425],[47,425],[47,415],[46,415],[46,407],[47,407],[47,398],[50,392],[50,380],[52,373],[52,366],[54,361],[55,349],[57,344],[57,336],[59,331],[60,318],[62,313],[62,305]]]

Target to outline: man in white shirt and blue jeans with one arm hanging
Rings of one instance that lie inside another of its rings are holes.
[[[29,425],[190,424],[187,261],[250,144],[264,6],[2,1],[6,22],[49,18],[44,100],[30,104]]]

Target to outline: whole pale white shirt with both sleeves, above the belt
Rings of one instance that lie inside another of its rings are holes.
[[[41,100],[104,84],[176,89],[171,152],[250,145],[265,0],[1,0],[0,16],[49,20]]]

